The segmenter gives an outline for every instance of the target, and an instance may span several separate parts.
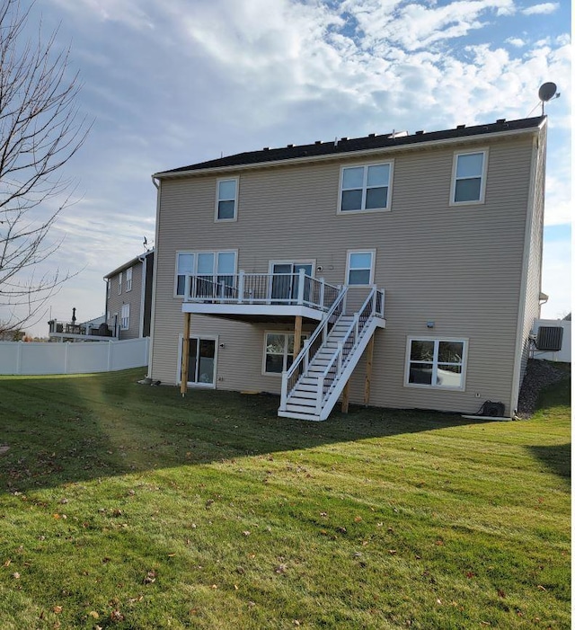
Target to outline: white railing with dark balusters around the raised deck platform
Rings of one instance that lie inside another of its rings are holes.
[[[311,306],[328,311],[340,288],[298,273],[186,275],[184,301],[212,304]]]

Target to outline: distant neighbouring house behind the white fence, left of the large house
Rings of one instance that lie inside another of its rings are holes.
[[[119,340],[150,336],[154,250],[104,276],[106,323]]]

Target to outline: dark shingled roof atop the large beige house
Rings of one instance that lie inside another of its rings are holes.
[[[155,173],[157,176],[171,173],[185,173],[187,171],[199,171],[211,168],[226,168],[230,166],[245,166],[249,164],[264,164],[268,162],[279,162],[302,157],[319,157],[323,155],[347,154],[354,151],[365,151],[369,149],[386,148],[390,146],[407,146],[438,140],[448,140],[452,138],[469,138],[472,136],[483,136],[502,131],[517,131],[522,129],[536,129],[544,120],[544,116],[536,118],[526,118],[521,120],[500,119],[497,122],[487,125],[474,125],[466,127],[459,125],[456,129],[446,129],[443,131],[431,131],[424,133],[416,131],[408,136],[395,136],[389,134],[370,134],[365,138],[340,138],[337,142],[314,142],[312,145],[282,146],[279,148],[264,148],[259,151],[248,151],[235,155],[227,155],[217,160],[208,160],[199,164],[181,166],[162,173]]]

